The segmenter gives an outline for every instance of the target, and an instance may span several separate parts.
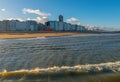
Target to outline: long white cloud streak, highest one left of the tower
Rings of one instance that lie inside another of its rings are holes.
[[[26,13],[37,14],[37,15],[42,16],[42,17],[46,17],[46,16],[51,15],[50,13],[45,13],[45,12],[42,12],[42,11],[40,11],[38,9],[33,10],[33,9],[24,8],[22,11],[23,11],[24,14],[26,14]]]

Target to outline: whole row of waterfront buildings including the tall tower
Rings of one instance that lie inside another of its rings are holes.
[[[39,32],[39,31],[79,31],[85,32],[87,28],[82,25],[73,25],[64,22],[63,16],[59,15],[59,21],[48,21],[45,24],[36,21],[27,20],[3,20],[0,21],[0,32]]]

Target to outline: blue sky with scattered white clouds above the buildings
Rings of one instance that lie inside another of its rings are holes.
[[[120,30],[120,0],[0,0],[0,20],[65,22]]]

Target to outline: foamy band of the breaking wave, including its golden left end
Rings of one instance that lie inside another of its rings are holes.
[[[35,69],[21,69],[16,71],[4,70],[0,73],[0,76],[9,75],[69,75],[69,74],[91,74],[91,73],[106,73],[106,72],[120,72],[120,61],[109,62],[101,64],[88,64],[88,65],[76,65],[76,66],[54,66],[49,68],[35,68]]]

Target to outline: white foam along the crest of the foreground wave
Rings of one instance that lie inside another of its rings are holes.
[[[4,70],[2,73],[7,73],[7,70]],[[35,69],[21,69],[16,71],[9,71],[14,73],[27,72],[27,73],[40,73],[40,74],[50,74],[50,73],[98,73],[98,72],[120,72],[120,61],[117,62],[109,62],[109,63],[101,63],[101,64],[88,64],[88,65],[76,65],[76,66],[54,66],[48,68],[35,68]]]

